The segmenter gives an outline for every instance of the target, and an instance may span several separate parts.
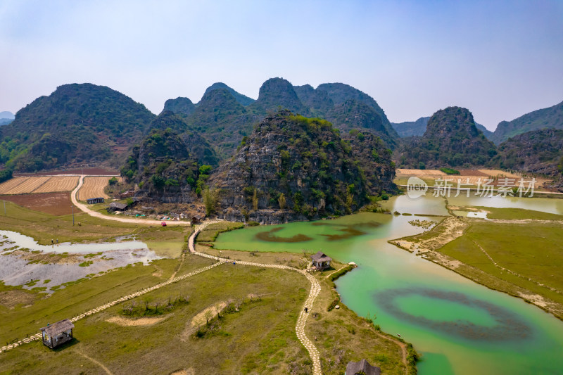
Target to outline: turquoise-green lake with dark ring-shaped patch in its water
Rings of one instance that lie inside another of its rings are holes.
[[[526,198],[521,208],[534,209],[534,199]],[[389,204],[399,212],[447,215],[442,198],[400,196]],[[487,203],[480,198],[471,205]],[[541,201],[536,210],[551,212],[551,207]],[[375,314],[383,331],[415,345],[422,354],[419,374],[561,374],[563,322],[387,243],[424,231],[408,223],[413,218],[439,220],[360,213],[230,231],[218,237],[215,247],[322,250],[341,262],[356,262],[359,267],[336,282],[343,302],[362,316]]]

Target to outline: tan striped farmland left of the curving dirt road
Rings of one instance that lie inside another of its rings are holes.
[[[71,191],[78,183],[77,176],[14,177],[0,184],[0,194],[54,193]]]

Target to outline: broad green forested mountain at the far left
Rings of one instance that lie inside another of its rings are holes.
[[[108,87],[65,84],[18,111],[0,128],[0,163],[32,172],[105,162],[146,131],[154,115]]]

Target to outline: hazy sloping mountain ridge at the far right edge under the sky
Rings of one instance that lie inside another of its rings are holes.
[[[491,139],[500,144],[512,136],[538,129],[563,129],[563,101],[555,106],[534,110],[512,121],[499,122]]]

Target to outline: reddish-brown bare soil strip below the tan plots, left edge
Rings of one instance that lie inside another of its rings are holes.
[[[0,196],[0,200],[11,201],[17,205],[34,211],[41,211],[51,215],[69,215],[72,213],[70,192],[20,194],[15,196]],[[78,212],[78,210],[76,210]]]

